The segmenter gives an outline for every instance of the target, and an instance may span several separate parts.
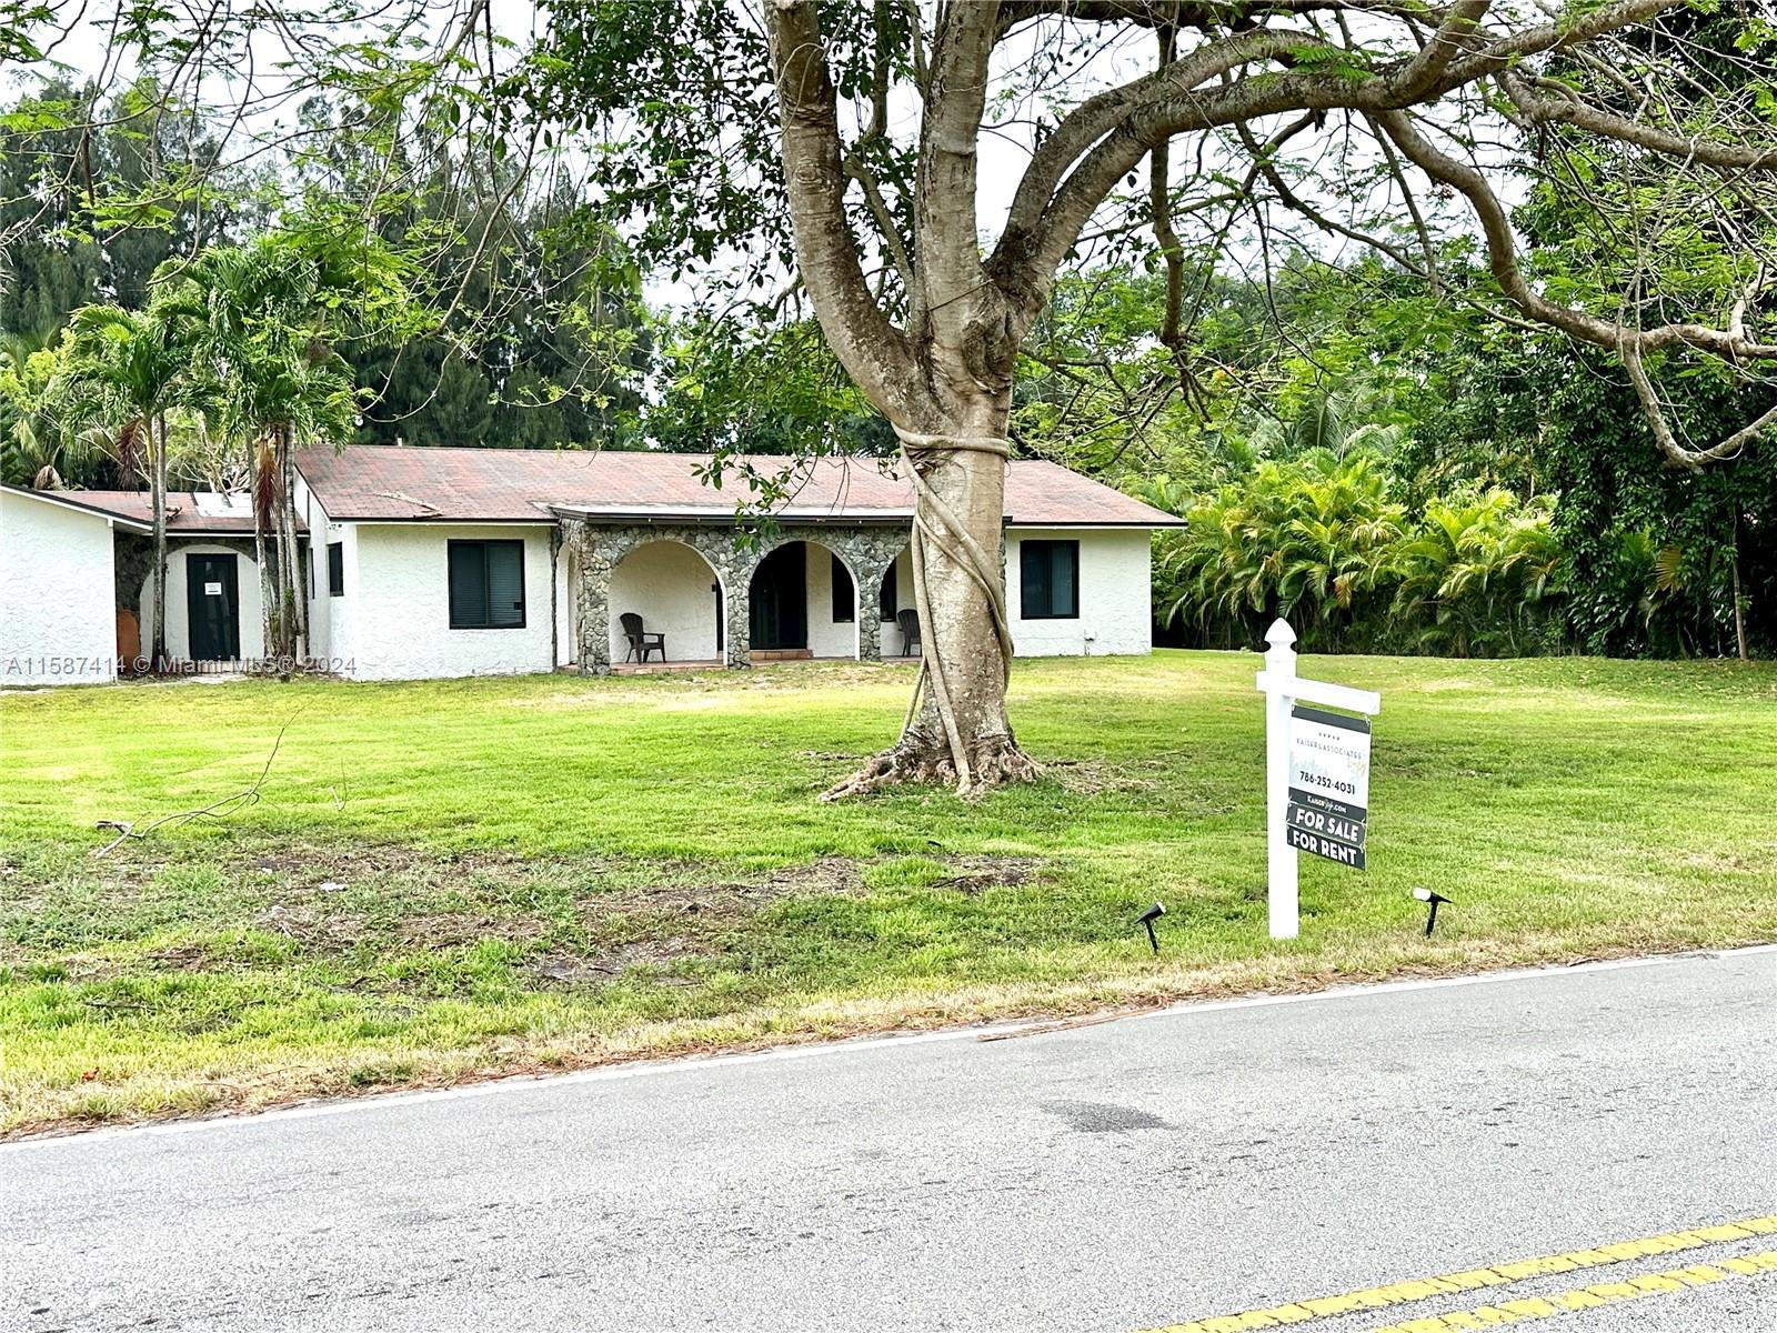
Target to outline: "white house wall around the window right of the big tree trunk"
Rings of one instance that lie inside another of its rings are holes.
[[[1080,544],[1079,617],[1025,620],[1018,546],[1025,540]],[[1153,651],[1153,540],[1146,528],[1011,528],[1006,533],[1006,610],[1020,658],[1098,658]]]

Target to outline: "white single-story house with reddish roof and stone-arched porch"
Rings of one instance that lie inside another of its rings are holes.
[[[761,469],[789,466],[755,459]],[[307,652],[354,679],[745,666],[917,649],[912,487],[874,459],[794,473],[746,540],[709,457],[354,446],[299,457]],[[261,656],[245,501],[169,496],[167,651]],[[1006,478],[1020,656],[1151,647],[1150,544],[1178,519],[1048,462]],[[0,686],[108,681],[151,642],[147,498],[0,487]]]

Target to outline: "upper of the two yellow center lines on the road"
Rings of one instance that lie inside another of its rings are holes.
[[[1263,1310],[1244,1310],[1233,1315],[1214,1315],[1189,1324],[1166,1324],[1144,1333],[1247,1333],[1260,1328],[1279,1328],[1283,1324],[1304,1324],[1311,1319],[1331,1319],[1349,1315],[1358,1310],[1386,1310],[1391,1305],[1409,1305],[1434,1296],[1470,1292],[1480,1287],[1505,1287],[1526,1278],[1541,1278],[1550,1273],[1580,1273],[1608,1264],[1622,1264],[1630,1258],[1647,1258],[1649,1255],[1670,1255],[1681,1249],[1724,1244],[1727,1241],[1749,1241],[1754,1235],[1777,1235],[1777,1214],[1766,1217],[1743,1217],[1722,1226],[1695,1226],[1688,1232],[1667,1232],[1649,1235],[1640,1241],[1619,1241],[1594,1249],[1569,1249],[1564,1255],[1544,1255],[1541,1258],[1523,1258],[1514,1264],[1494,1264],[1484,1269],[1466,1269],[1462,1273],[1445,1273],[1438,1278],[1418,1278],[1414,1281],[1395,1281],[1386,1287],[1367,1287],[1359,1292],[1342,1296],[1317,1296],[1308,1301],[1269,1306]],[[1724,1260],[1725,1264],[1725,1260]],[[1505,1321],[1510,1322],[1510,1321]],[[1427,1326],[1430,1328],[1430,1326]],[[1462,1328],[1461,1324],[1439,1324],[1438,1328]],[[1475,1324],[1473,1328],[1486,1328]]]

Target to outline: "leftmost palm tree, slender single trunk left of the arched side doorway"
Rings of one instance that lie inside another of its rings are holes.
[[[167,666],[167,412],[187,400],[197,311],[156,291],[144,311],[85,306],[68,323],[55,395],[69,430],[103,425],[123,459],[147,457],[155,524],[155,670]]]

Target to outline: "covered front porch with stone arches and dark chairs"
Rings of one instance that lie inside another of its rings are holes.
[[[574,666],[750,666],[904,656],[904,523],[785,524],[748,547],[732,523],[562,519]]]

